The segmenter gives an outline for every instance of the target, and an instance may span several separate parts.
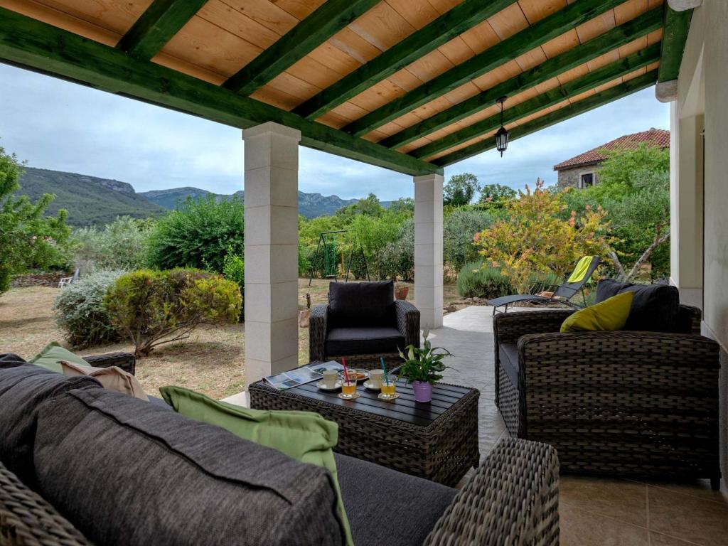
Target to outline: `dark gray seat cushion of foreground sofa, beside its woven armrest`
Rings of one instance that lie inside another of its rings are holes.
[[[356,546],[422,546],[456,489],[334,454]]]

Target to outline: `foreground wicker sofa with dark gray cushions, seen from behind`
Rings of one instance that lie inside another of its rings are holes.
[[[159,400],[20,365],[0,369],[0,405],[12,408],[0,415],[0,435],[13,438],[0,445],[1,546],[341,544],[328,472],[193,422]],[[18,456],[23,450],[30,453]],[[160,462],[167,456],[174,472]],[[336,464],[357,546],[558,545],[558,459],[545,444],[504,440],[459,491],[352,457],[337,454]],[[205,498],[210,480],[213,496]],[[257,504],[266,480],[277,491],[266,502],[278,502],[267,512]],[[242,531],[244,521],[256,529]],[[256,542],[261,533],[275,539]]]

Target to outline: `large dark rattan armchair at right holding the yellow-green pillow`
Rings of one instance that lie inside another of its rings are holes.
[[[496,405],[510,435],[553,445],[566,472],[717,488],[719,346],[700,336],[700,309],[680,306],[689,333],[559,333],[572,312],[494,318]],[[505,351],[517,351],[517,371]]]

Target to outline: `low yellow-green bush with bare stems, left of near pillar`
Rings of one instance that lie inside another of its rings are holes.
[[[138,357],[189,337],[200,324],[234,324],[242,299],[235,282],[199,269],[142,269],[119,277],[104,304]]]

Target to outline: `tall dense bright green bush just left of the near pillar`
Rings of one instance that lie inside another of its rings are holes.
[[[160,218],[149,234],[149,265],[156,269],[194,267],[223,272],[232,248],[245,248],[245,213],[237,198],[215,201],[188,198],[178,210]]]

